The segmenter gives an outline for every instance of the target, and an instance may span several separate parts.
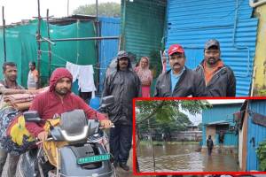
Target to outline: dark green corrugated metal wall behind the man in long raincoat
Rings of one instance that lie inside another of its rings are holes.
[[[137,58],[156,54],[160,63],[165,9],[166,0],[122,0],[122,49],[136,54]],[[152,59],[154,63],[155,58]]]

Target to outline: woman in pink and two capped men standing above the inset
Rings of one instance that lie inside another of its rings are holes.
[[[147,69],[148,61],[146,58],[141,58],[141,65],[136,70],[141,80],[143,97],[149,96],[145,93],[147,86],[151,86],[153,81],[151,71]],[[170,70],[165,70],[166,60],[164,59],[163,72],[157,79],[154,96],[236,96],[234,73],[228,65],[224,65],[220,43],[217,40],[211,39],[205,43],[204,59],[195,70],[185,66],[185,62],[184,48],[179,44],[171,45],[168,49]],[[142,65],[142,63],[146,64]]]

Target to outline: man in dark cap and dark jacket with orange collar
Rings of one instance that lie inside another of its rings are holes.
[[[220,43],[211,39],[205,43],[204,59],[196,68],[205,80],[208,96],[236,96],[236,79],[228,65],[224,65]]]

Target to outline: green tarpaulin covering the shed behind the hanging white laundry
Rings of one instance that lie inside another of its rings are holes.
[[[51,39],[94,37],[96,29],[93,21],[79,21],[70,25],[49,25]],[[37,34],[38,21],[31,20],[27,24],[5,28],[6,58],[18,65],[18,82],[27,86],[28,62],[37,62]],[[47,23],[41,23],[41,35],[47,37]],[[65,67],[66,61],[77,65],[96,64],[96,42],[95,41],[71,41],[55,42],[51,45],[51,72],[56,67]],[[49,52],[48,43],[41,45],[41,80],[45,84],[49,77]],[[4,63],[4,40],[3,28],[0,28],[0,65]],[[3,73],[0,73],[3,78]]]

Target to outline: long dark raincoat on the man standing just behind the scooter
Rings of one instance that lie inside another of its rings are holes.
[[[127,71],[119,70],[119,62],[115,70],[106,74],[102,96],[114,96],[114,104],[108,107],[109,119],[114,124],[132,125],[132,99],[141,96],[141,82],[132,70],[129,60]]]

